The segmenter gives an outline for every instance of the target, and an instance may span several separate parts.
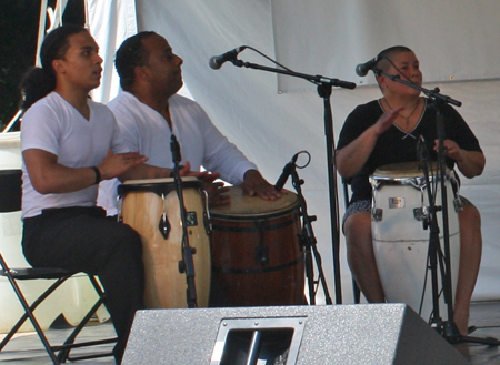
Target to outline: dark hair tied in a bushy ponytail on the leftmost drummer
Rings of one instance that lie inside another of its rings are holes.
[[[23,97],[22,109],[30,108],[56,89],[56,72],[52,68],[52,61],[64,58],[69,48],[68,38],[70,36],[86,31],[87,29],[81,26],[66,24],[47,34],[40,50],[42,67],[28,70],[19,84]]]

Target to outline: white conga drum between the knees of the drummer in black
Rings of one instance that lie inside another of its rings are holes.
[[[436,186],[436,205],[441,204],[441,183],[437,179],[436,163],[429,169],[429,179]],[[430,230],[423,216],[428,212],[429,200],[424,174],[420,163],[397,163],[379,168],[370,178],[372,185],[372,236],[373,251],[389,303],[407,303],[422,318],[428,321],[432,314],[431,271],[428,270]],[[447,170],[449,242],[451,262],[451,283],[454,293],[460,261],[459,206],[456,204],[452,183],[454,174]],[[442,211],[437,214],[440,227],[439,240],[443,246]],[[447,306],[442,293],[442,280],[438,266],[440,314],[447,318]]]

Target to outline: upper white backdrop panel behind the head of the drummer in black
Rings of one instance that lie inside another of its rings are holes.
[[[273,0],[271,7],[278,61],[293,70],[366,84],[354,65],[403,44],[432,64],[429,81],[500,77],[492,61],[500,57],[494,1]],[[294,79],[279,81],[282,91],[303,89]]]

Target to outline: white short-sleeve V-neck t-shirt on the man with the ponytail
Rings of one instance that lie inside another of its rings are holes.
[[[108,149],[127,152],[111,111],[89,99],[90,120],[57,92],[36,102],[22,118],[21,150],[40,149],[58,156],[58,163],[69,168],[101,164]],[[22,163],[22,217],[41,214],[43,209],[94,206],[98,185],[61,194],[40,194],[31,185]]]

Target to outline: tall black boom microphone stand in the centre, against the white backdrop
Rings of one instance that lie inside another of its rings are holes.
[[[333,140],[333,118],[331,112],[331,88],[354,89],[356,83],[342,81],[339,79],[329,79],[322,75],[311,75],[306,73],[298,73],[290,70],[281,70],[269,68],[256,63],[244,62],[238,59],[231,60],[232,64],[239,68],[248,68],[254,70],[262,70],[268,72],[281,73],[294,78],[311,81],[318,85],[318,94],[323,99],[324,105],[324,134],[327,139],[327,161],[328,161],[328,186],[330,197],[330,229],[332,237],[332,255],[333,255],[333,278],[336,285],[336,304],[342,304],[342,284],[340,280],[340,230],[339,230],[339,200],[337,187],[337,165],[336,165],[336,149]]]

